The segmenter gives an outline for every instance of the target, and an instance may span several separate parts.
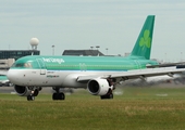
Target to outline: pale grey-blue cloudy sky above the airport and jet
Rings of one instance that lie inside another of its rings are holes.
[[[156,15],[151,58],[185,60],[184,0],[0,0],[0,50],[32,49],[41,55],[96,49],[132,51],[147,15]]]

